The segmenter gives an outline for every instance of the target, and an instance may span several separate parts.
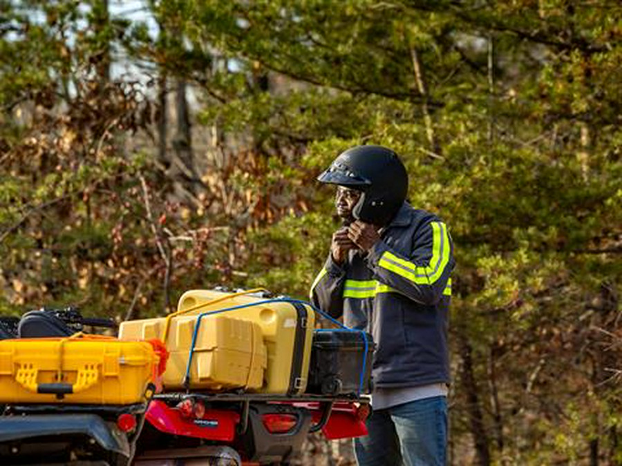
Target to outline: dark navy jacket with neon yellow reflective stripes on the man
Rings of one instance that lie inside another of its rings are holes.
[[[310,291],[312,302],[377,344],[378,387],[449,383],[447,327],[455,266],[447,226],[404,203],[369,253],[330,254]]]

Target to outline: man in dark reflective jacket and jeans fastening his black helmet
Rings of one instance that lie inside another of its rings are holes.
[[[360,466],[444,465],[453,244],[435,215],[408,205],[397,154],[356,146],[318,177],[337,185],[343,226],[311,288],[319,308],[377,344],[369,435]]]

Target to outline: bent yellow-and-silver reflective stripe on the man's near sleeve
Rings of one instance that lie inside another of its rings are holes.
[[[449,235],[442,222],[433,222],[432,226],[432,257],[428,266],[417,266],[413,262],[397,257],[385,251],[378,262],[379,266],[397,275],[411,280],[416,284],[433,284],[442,275],[449,262]]]

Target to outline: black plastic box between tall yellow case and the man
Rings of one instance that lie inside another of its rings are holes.
[[[328,396],[370,393],[375,344],[369,333],[365,333],[365,336],[367,337],[366,358],[364,358],[365,341],[362,332],[347,330],[315,331],[307,393]],[[361,371],[363,373],[362,385]]]

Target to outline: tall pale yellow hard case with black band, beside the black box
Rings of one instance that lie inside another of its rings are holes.
[[[178,313],[197,314],[266,301],[243,293],[213,290],[186,291]],[[210,301],[213,304],[208,304]],[[267,349],[265,383],[255,391],[269,394],[303,394],[308,381],[315,313],[308,305],[270,302],[226,311],[223,315],[251,320],[261,327]]]

